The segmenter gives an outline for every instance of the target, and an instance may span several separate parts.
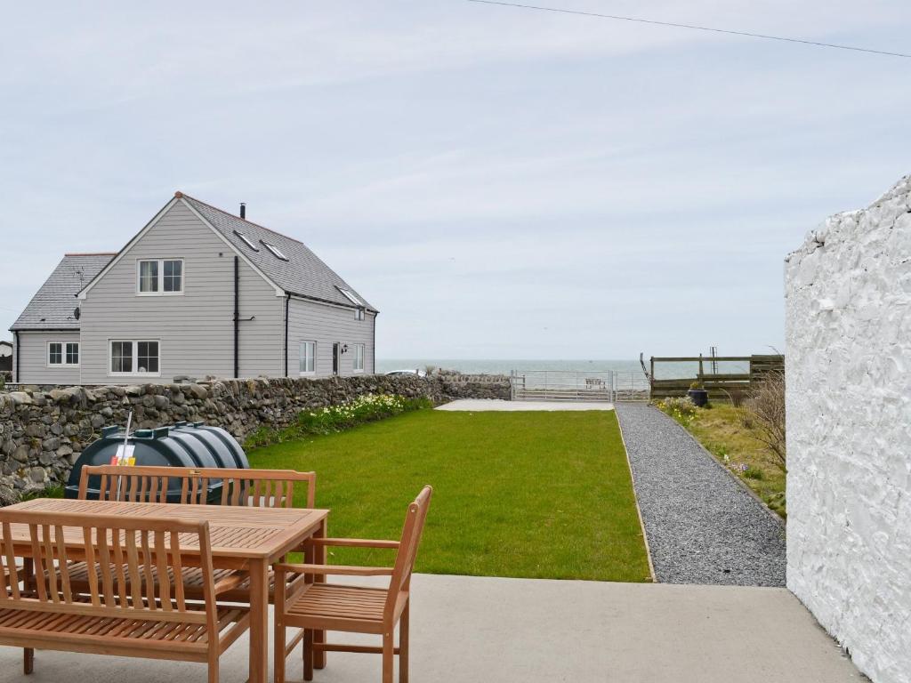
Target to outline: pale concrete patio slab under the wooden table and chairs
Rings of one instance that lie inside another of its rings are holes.
[[[784,588],[416,575],[412,595],[415,682],[865,680]],[[341,637],[375,641],[330,634],[333,642]],[[21,658],[21,650],[0,647],[0,682],[24,680]],[[242,683],[246,639],[221,662],[222,683]],[[327,668],[314,680],[379,680],[379,664],[374,655],[329,653]],[[301,678],[299,657],[289,658],[288,675]],[[29,681],[74,676],[92,683],[201,682],[205,668],[45,651],[36,653]]]

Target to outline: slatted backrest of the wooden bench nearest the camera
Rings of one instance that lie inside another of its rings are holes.
[[[0,588],[0,609],[210,625],[216,619],[208,522],[0,510],[0,526],[0,564],[10,575]],[[29,549],[17,553],[17,544]],[[199,548],[205,611],[189,609],[184,596],[180,554],[192,545]],[[26,576],[15,566],[17,555],[34,561],[34,592],[19,586]],[[70,574],[72,563],[83,561],[87,594],[73,589]],[[218,630],[210,634],[218,637]]]

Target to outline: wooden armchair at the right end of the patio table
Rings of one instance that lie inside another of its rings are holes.
[[[284,683],[285,659],[297,645],[289,644],[285,629],[303,629],[303,679],[313,678],[314,652],[363,652],[383,655],[383,683],[392,683],[394,655],[399,656],[399,681],[408,680],[408,612],[411,573],[430,506],[433,489],[425,486],[408,506],[400,541],[314,539],[318,545],[397,548],[395,565],[388,567],[289,565],[275,569],[275,683]],[[287,576],[297,574],[290,584]],[[388,588],[343,586],[325,583],[323,576],[391,576]],[[394,647],[399,623],[399,647]],[[382,647],[335,645],[314,642],[314,630],[373,633],[383,637]]]

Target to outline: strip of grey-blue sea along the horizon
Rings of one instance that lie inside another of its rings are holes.
[[[646,359],[646,365],[649,361]],[[708,366],[708,361],[706,365]],[[719,362],[716,372],[749,372],[749,363]],[[454,358],[377,358],[376,372],[395,370],[426,370],[428,367],[455,370],[465,374],[509,374],[516,370],[554,372],[642,372],[639,359],[630,360],[581,360],[581,361],[535,361],[521,359],[454,359]],[[696,362],[664,362],[655,368],[658,379],[695,377],[699,370]],[[706,368],[708,370],[708,367]]]

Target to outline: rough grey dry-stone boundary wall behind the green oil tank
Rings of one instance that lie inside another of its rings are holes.
[[[327,379],[212,380],[194,384],[26,387],[0,392],[0,503],[23,491],[66,484],[79,454],[102,426],[137,428],[185,420],[227,429],[241,442],[261,425],[281,429],[297,413],[367,393],[394,393],[445,403],[454,398],[509,398],[509,378],[449,382],[445,377],[361,375]]]

